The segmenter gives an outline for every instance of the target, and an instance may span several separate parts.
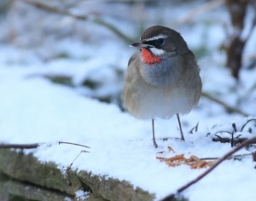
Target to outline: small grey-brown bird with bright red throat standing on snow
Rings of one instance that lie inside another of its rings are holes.
[[[179,114],[189,113],[201,96],[200,68],[195,55],[181,34],[166,26],[150,26],[131,47],[123,83],[124,105],[132,116],[151,119],[154,147],[155,118],[176,114],[181,140],[184,141]]]

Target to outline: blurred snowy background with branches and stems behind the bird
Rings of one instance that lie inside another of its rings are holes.
[[[124,110],[123,75],[137,51],[129,45],[148,26],[168,26],[201,67],[199,109],[256,115],[255,23],[253,0],[1,0],[0,67],[31,68],[26,78]]]

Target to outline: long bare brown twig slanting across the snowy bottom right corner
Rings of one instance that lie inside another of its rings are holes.
[[[212,170],[215,169],[219,164],[224,162],[224,160],[226,160],[227,158],[230,158],[230,156],[232,156],[235,152],[238,152],[244,146],[248,146],[248,145],[250,145],[252,143],[255,143],[255,142],[256,142],[256,136],[248,139],[247,141],[241,142],[241,144],[239,146],[236,146],[234,149],[230,150],[230,152],[227,152],[226,154],[224,154],[224,156],[222,158],[219,158],[214,164],[212,164],[212,166],[209,169],[207,169],[201,175],[196,177],[194,180],[189,181],[189,183],[187,183],[183,187],[178,188],[177,192],[172,193],[171,195],[168,195],[166,198],[163,198],[161,201],[171,201],[171,200],[173,200],[179,193],[183,192],[184,190],[186,190],[187,188],[189,188],[190,186],[192,186],[196,182],[201,181],[202,178],[204,178],[206,175],[208,175],[210,172],[212,172]]]

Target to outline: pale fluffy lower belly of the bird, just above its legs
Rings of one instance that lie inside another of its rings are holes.
[[[195,93],[184,89],[135,90],[127,108],[136,118],[171,118],[176,113],[188,113],[195,102]]]

